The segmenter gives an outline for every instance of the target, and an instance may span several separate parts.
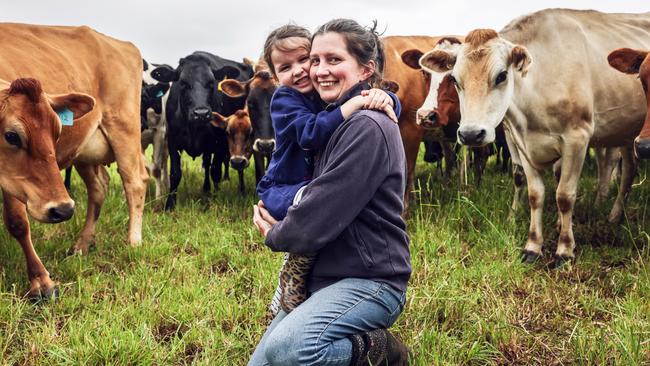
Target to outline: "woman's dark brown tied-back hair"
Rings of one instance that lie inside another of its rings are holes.
[[[368,65],[373,60],[377,67],[375,73],[370,76],[371,85],[377,86],[381,81],[384,73],[384,46],[379,40],[380,34],[377,32],[377,21],[372,22],[372,27],[363,27],[352,19],[333,19],[321,25],[311,40],[314,42],[316,36],[333,32],[338,33],[345,39],[347,50],[360,65]]]

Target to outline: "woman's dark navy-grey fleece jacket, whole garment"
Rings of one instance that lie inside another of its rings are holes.
[[[399,127],[382,112],[357,111],[332,134],[302,200],[271,228],[265,243],[274,251],[318,252],[311,292],[348,277],[404,291],[411,274],[401,217],[405,187]]]

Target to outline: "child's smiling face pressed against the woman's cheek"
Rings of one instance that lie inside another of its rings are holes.
[[[280,85],[296,89],[300,93],[308,93],[314,89],[309,79],[309,51],[303,47],[291,51],[274,49],[271,52],[271,62]]]

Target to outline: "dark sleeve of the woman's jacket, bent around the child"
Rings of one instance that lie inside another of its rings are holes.
[[[377,122],[353,115],[322,173],[309,183],[298,205],[273,226],[266,245],[274,251],[312,253],[336,239],[366,207],[386,179],[389,155]],[[367,121],[366,121],[367,120]]]

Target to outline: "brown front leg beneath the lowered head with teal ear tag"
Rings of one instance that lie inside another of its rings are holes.
[[[32,299],[41,297],[52,298],[58,296],[58,287],[50,279],[50,273],[45,269],[41,259],[36,254],[32,245],[32,237],[27,219],[25,204],[4,190],[3,195],[3,217],[5,227],[23,248],[25,260],[27,261],[27,276],[29,278],[29,292],[27,296]]]

